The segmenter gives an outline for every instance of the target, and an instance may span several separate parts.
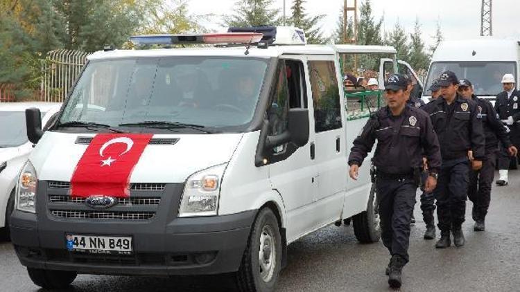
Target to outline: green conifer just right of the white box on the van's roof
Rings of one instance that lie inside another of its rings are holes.
[[[320,21],[325,15],[308,16],[304,8],[305,0],[294,0],[291,7],[291,18],[289,23],[297,28],[302,28],[306,34],[307,43],[309,44],[325,44],[329,39],[323,37],[320,29]]]

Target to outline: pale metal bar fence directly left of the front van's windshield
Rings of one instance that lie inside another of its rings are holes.
[[[63,102],[89,53],[73,50],[55,50],[47,54],[42,64],[40,100]]]

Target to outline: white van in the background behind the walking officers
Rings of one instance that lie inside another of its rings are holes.
[[[514,39],[479,37],[442,42],[433,53],[423,98],[426,101],[431,97],[428,91],[431,83],[449,70],[461,79],[470,80],[479,97],[495,100],[503,91],[504,74],[511,73],[517,77],[517,84],[520,82],[519,60],[520,44]]]

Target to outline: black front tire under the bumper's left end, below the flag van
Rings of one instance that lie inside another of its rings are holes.
[[[76,272],[42,270],[40,268],[27,268],[27,272],[33,283],[43,289],[67,288],[78,276]]]

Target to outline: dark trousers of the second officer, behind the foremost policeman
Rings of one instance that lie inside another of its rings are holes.
[[[441,232],[449,232],[465,220],[468,174],[467,158],[442,161],[437,188],[433,191],[437,200],[437,226]]]

